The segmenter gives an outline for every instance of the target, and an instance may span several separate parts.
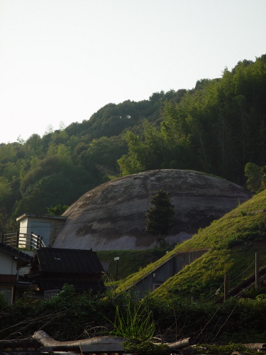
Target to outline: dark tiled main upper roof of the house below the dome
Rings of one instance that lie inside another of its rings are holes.
[[[83,274],[104,271],[95,251],[79,249],[41,248],[35,251],[38,269],[42,273]]]

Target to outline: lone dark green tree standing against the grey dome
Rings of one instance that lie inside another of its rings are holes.
[[[159,190],[156,195],[150,199],[151,206],[145,214],[145,225],[150,234],[161,236],[168,234],[174,219],[174,204],[169,197],[169,192]]]

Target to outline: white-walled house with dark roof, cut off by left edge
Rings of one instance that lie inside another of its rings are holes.
[[[4,292],[4,296],[10,304],[30,288],[31,283],[20,280],[18,271],[31,263],[32,260],[33,257],[28,253],[0,243],[0,292]]]

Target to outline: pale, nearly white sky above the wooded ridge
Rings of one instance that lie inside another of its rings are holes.
[[[0,143],[266,53],[266,0],[0,0]]]

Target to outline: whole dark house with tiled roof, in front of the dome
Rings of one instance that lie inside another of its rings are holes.
[[[102,273],[104,268],[92,249],[40,248],[35,251],[27,276],[40,295],[62,290],[65,283],[73,285],[77,293],[99,293],[106,290]]]

